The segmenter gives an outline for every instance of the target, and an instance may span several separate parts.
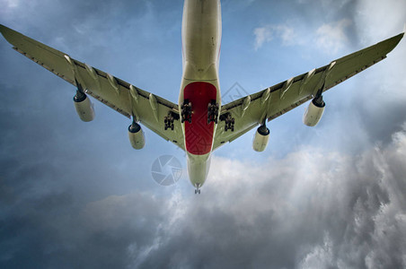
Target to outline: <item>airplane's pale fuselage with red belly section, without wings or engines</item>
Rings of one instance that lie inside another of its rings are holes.
[[[190,101],[191,123],[182,123],[188,173],[193,186],[201,187],[208,173],[216,123],[207,123],[207,106],[221,108],[218,64],[221,44],[219,0],[185,0],[181,29],[183,74],[179,108]],[[218,111],[219,113],[220,111]]]

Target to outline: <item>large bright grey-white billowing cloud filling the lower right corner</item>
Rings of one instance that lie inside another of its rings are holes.
[[[181,198],[181,217],[163,226],[144,265],[402,267],[405,154],[403,130],[357,156],[304,148],[260,165],[215,158],[204,194]]]

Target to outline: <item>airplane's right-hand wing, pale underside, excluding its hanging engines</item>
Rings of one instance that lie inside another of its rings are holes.
[[[327,91],[383,60],[396,47],[403,34],[386,39],[348,56],[332,61],[329,65],[297,75],[263,91],[234,100],[221,107],[220,120],[234,117],[234,131],[225,130],[225,124],[217,126],[213,150],[226,142],[232,142],[255,126],[285,114],[313,99],[317,91]]]

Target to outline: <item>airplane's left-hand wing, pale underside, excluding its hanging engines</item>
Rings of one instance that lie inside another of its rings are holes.
[[[66,53],[50,48],[1,24],[0,32],[13,45],[13,49],[23,56],[76,87],[80,83],[85,92],[94,99],[100,100],[126,117],[135,117],[137,121],[162,136],[163,139],[185,149],[181,121],[176,120],[176,116],[179,115],[176,104],[75,60]],[[175,117],[173,130],[164,128],[164,117],[168,114]]]

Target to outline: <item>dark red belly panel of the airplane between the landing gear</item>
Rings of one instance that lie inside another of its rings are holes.
[[[192,154],[204,155],[211,151],[214,122],[207,125],[207,106],[216,100],[216,87],[207,82],[191,82],[183,91],[183,98],[189,100],[193,114],[191,123],[185,122],[186,150]]]

